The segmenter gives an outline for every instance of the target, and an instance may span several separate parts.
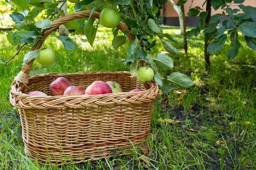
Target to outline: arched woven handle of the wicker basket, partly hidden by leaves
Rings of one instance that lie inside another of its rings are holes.
[[[91,17],[95,18],[95,19],[99,19],[99,15],[100,15],[100,12],[94,11],[93,14],[91,15]],[[87,18],[87,17],[90,17],[90,11],[78,11],[78,12],[74,12],[71,14],[67,14],[63,17],[57,18],[54,22],[52,22],[51,26],[49,26],[49,28],[47,28],[44,31],[44,39],[42,40],[42,39],[37,38],[36,39],[36,41],[38,41],[37,44],[34,47],[32,47],[30,49],[30,51],[40,49],[41,46],[43,45],[44,40],[49,36],[49,34],[51,34],[52,31],[54,31],[56,28],[58,28],[62,24],[67,23],[71,20],[78,19],[78,18]],[[122,22],[119,23],[117,28],[119,30],[121,30],[122,32],[124,32],[124,31],[130,32],[129,28]],[[127,34],[127,37],[130,40],[134,39],[133,34]],[[30,62],[26,62],[26,63],[22,64],[23,67],[22,67],[20,73],[18,73],[17,76],[15,77],[14,82],[12,84],[18,83],[20,86],[23,86],[22,84],[25,84],[25,85],[28,84],[29,72],[32,69],[32,64],[33,64],[34,60],[35,59],[32,59]]]

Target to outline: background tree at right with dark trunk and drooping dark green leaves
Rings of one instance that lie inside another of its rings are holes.
[[[186,3],[187,0],[180,0]],[[256,8],[252,6],[244,6],[244,0],[205,0],[202,7],[196,6],[190,8],[189,17],[200,17],[197,27],[186,32],[186,37],[198,36],[201,31],[204,34],[205,42],[205,70],[210,69],[209,54],[221,50],[226,43],[227,37],[230,37],[230,50],[227,51],[227,57],[234,59],[241,46],[238,40],[239,32],[244,37],[248,47],[256,50],[256,23],[253,17],[256,16]],[[192,0],[193,3],[193,0]],[[202,8],[206,6],[206,10]],[[221,8],[221,14],[211,16],[212,8],[217,10]],[[221,22],[221,27],[216,28]]]

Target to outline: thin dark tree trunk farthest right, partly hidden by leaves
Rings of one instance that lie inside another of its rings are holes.
[[[206,11],[208,11],[208,15],[205,18],[205,24],[207,25],[209,23],[209,20],[211,18],[211,0],[207,0],[206,3]],[[206,37],[204,36],[204,60],[205,60],[205,71],[210,71],[211,63],[210,63],[210,54],[207,54],[207,47],[209,45],[209,42],[206,40]]]

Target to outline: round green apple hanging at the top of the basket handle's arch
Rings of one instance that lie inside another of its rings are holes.
[[[99,15],[99,23],[107,28],[116,28],[121,20],[117,9],[104,8]]]

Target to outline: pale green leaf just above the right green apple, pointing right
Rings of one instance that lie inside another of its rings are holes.
[[[172,58],[166,54],[157,54],[154,58],[150,58],[156,61],[156,64],[163,71],[168,71],[173,68]]]

